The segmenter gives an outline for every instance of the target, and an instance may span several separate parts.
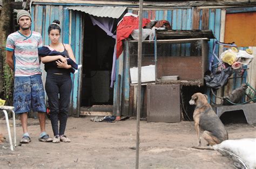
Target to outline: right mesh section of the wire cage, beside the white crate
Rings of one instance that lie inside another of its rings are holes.
[[[202,79],[202,40],[158,40],[157,79],[178,76],[179,80]]]

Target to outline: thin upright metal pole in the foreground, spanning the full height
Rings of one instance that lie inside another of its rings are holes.
[[[139,168],[139,120],[140,95],[142,90],[142,10],[143,0],[139,0],[139,41],[138,41],[138,94],[137,94],[137,137],[136,137],[136,168]]]

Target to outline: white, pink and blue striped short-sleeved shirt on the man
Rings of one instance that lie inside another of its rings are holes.
[[[14,51],[15,76],[41,74],[38,48],[42,46],[42,36],[38,32],[31,31],[26,37],[17,31],[8,36],[6,51]]]

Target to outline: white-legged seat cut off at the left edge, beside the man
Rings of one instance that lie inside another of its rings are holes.
[[[15,123],[14,107],[8,106],[8,105],[1,105],[1,106],[0,106],[0,110],[2,110],[2,112],[4,112],[5,121],[6,121],[6,126],[7,126],[7,130],[8,130],[10,148],[11,148],[11,151],[14,151],[14,146],[16,146],[16,123]],[[12,112],[12,119],[13,119],[13,121],[14,121],[14,146],[12,145],[11,130],[10,130],[9,118],[8,118],[8,113],[7,113],[7,111],[11,111],[11,112]]]

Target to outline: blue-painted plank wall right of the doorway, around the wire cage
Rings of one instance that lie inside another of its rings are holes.
[[[196,11],[198,11],[198,15],[195,15]],[[134,13],[134,14],[138,14],[138,10],[132,10],[130,9],[128,12],[130,13]],[[208,14],[206,16],[203,17],[203,15],[205,15],[205,13],[208,12]],[[170,24],[172,25],[172,29],[173,30],[193,30],[193,29],[197,29],[197,30],[212,30],[215,38],[217,40],[219,40],[220,38],[220,18],[221,16],[221,10],[220,9],[196,9],[196,8],[187,8],[187,9],[172,9],[172,10],[145,10],[143,11],[143,17],[144,18],[149,18],[151,20],[161,20],[161,19],[165,19],[168,20],[170,22]],[[198,23],[195,23],[198,22]],[[213,42],[214,39],[211,39],[208,42],[208,60],[210,60],[211,57],[211,53],[213,50]],[[175,46],[173,46],[175,48]],[[187,46],[181,46],[181,48],[184,49],[188,49]],[[175,50],[172,50],[175,51]],[[181,50],[184,51],[184,50]],[[187,50],[188,51],[188,50]],[[178,51],[176,51],[178,52]],[[217,46],[217,50],[215,50],[216,53],[219,52],[218,50],[218,46]],[[177,53],[176,53],[177,54]],[[181,53],[183,54],[183,53]],[[187,52],[185,53],[185,55],[188,54]],[[127,56],[127,55],[126,55]],[[127,111],[129,111],[129,109],[131,108],[127,108],[129,107],[129,93],[130,93],[130,83],[129,83],[129,67],[125,66],[126,63],[123,61],[124,59],[124,55],[122,55],[122,57],[119,57],[119,61],[117,61],[117,75],[121,74],[122,75],[122,81],[126,82],[124,85],[122,85],[122,87],[124,87],[124,89],[121,88],[121,92],[120,92],[120,96],[123,95],[122,98],[122,114],[127,115]],[[129,60],[129,59],[127,59]],[[216,62],[216,61],[214,61]],[[120,67],[122,67],[120,69]],[[207,66],[208,67],[208,66]],[[123,80],[124,78],[124,80]],[[142,88],[142,90],[144,90],[146,88]],[[115,84],[114,87],[114,95],[116,95],[116,91],[117,91],[117,85]],[[122,92],[124,94],[122,94]],[[142,91],[142,93],[144,93],[145,91]],[[215,97],[212,96],[210,94],[209,91],[207,91],[207,94],[209,96],[209,98],[213,99],[215,101]],[[142,95],[142,97],[144,97],[144,95]],[[114,99],[116,99],[116,97],[114,97]],[[121,102],[121,101],[120,101]],[[143,103],[143,102],[142,102]],[[116,102],[114,101],[114,107],[115,107]],[[143,106],[142,106],[143,107]],[[116,111],[114,109],[114,111]]]

